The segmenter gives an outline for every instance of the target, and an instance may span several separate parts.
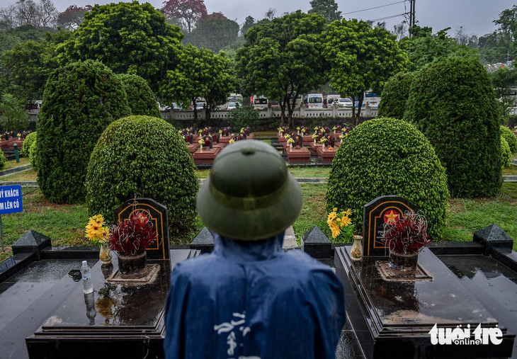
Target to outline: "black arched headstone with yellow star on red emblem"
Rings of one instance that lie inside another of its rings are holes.
[[[386,256],[388,248],[382,238],[384,224],[396,222],[406,211],[418,212],[419,207],[398,195],[382,195],[363,207],[363,253],[365,256]]]

